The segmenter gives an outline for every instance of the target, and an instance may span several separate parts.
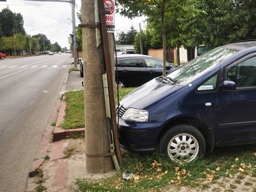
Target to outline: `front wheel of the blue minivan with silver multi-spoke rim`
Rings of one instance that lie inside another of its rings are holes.
[[[164,133],[159,150],[172,161],[188,163],[204,155],[204,136],[192,125],[175,125]]]

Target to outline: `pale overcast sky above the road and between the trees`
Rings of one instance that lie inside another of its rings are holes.
[[[13,13],[20,13],[24,19],[24,29],[28,35],[42,33],[51,43],[64,47],[70,47],[68,36],[72,33],[72,9],[70,3],[0,0],[0,11],[9,7]],[[77,12],[81,10],[81,0],[76,0],[76,26],[79,24]],[[131,26],[137,31],[145,29],[145,18],[127,19],[115,13],[115,34],[121,31],[129,31]]]

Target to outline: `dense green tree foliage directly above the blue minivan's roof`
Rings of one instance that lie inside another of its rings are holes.
[[[256,2],[244,0],[197,1],[198,15],[180,18],[184,45],[223,45],[256,37]]]

